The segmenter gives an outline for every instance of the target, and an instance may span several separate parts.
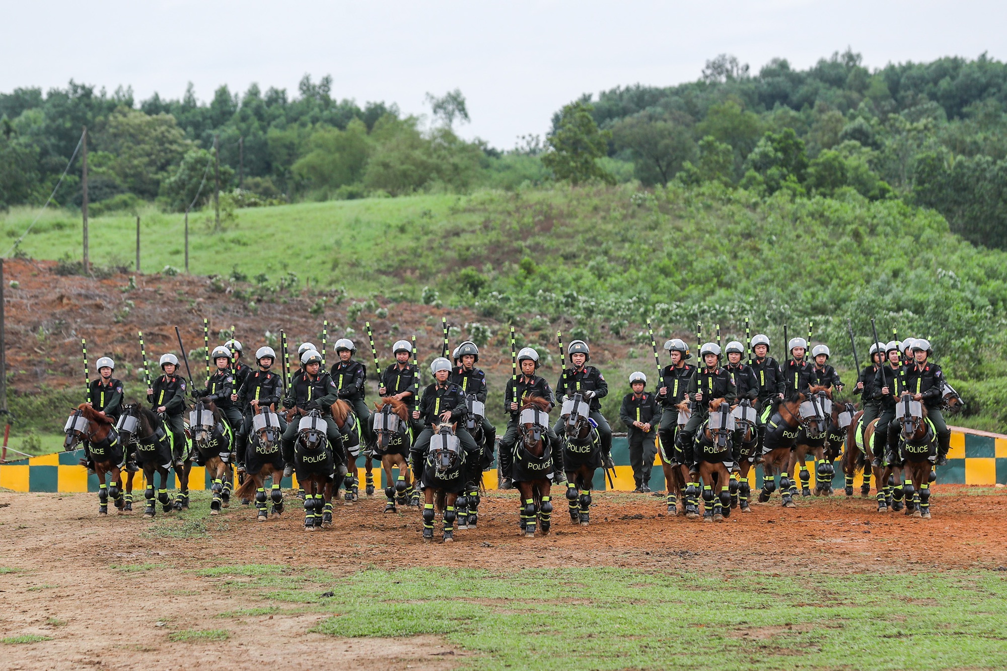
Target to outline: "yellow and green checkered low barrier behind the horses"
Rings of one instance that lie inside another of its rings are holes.
[[[959,485],[993,485],[1007,484],[1007,435],[976,431],[958,426],[949,427],[951,434],[951,451],[948,452],[948,464],[938,467],[938,483]],[[98,478],[88,475],[87,469],[79,464],[84,456],[82,450],[58,452],[33,456],[31,458],[10,461],[0,464],[0,488],[15,492],[97,492]],[[612,459],[615,461],[614,489],[616,491],[632,491],[635,487],[632,468],[629,466],[629,443],[625,436],[616,435],[612,438]],[[364,465],[364,458],[357,459],[357,466]],[[812,478],[815,478],[815,464],[809,460]],[[381,463],[375,463],[375,484],[385,487]],[[359,473],[361,485],[364,484],[364,472]],[[137,474],[134,488],[143,486],[143,474]],[[496,488],[496,469],[491,468],[482,474],[482,482],[487,490]],[[761,469],[759,476],[750,481],[753,487],[761,487]],[[209,489],[209,476],[201,466],[192,466],[189,476],[189,488]],[[655,457],[655,467],[651,473],[651,489],[655,491],[665,488],[665,476],[661,469],[661,461]],[[842,472],[837,468],[833,487],[842,489],[845,485]],[[177,487],[177,482],[175,482]],[[296,486],[296,481],[285,480],[284,487]],[[860,486],[860,476],[856,486]],[[594,476],[594,488],[608,488],[605,474],[600,468]]]

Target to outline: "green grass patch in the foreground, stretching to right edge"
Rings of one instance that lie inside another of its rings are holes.
[[[582,586],[571,592],[570,582]],[[912,594],[920,599],[905,602]],[[674,569],[365,570],[318,607],[339,615],[313,631],[445,636],[483,653],[478,668],[487,670],[541,668],[544,656],[591,669],[701,669],[713,659],[725,669],[893,669],[906,659],[921,671],[1003,668],[1005,599],[1007,580],[993,572],[798,580]]]

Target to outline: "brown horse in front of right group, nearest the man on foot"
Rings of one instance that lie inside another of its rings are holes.
[[[723,522],[731,514],[729,468],[735,467],[731,443],[733,431],[734,422],[727,399],[710,401],[709,416],[696,440],[696,469],[703,482],[704,522]]]

